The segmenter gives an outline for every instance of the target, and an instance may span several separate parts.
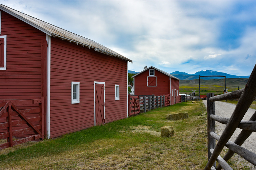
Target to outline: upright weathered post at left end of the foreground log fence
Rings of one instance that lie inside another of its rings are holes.
[[[208,160],[211,157],[210,149],[215,148],[215,139],[210,135],[210,132],[215,133],[215,120],[210,118],[210,115],[215,115],[215,102],[210,101],[210,97],[213,97],[214,93],[207,94],[207,143],[208,143]],[[213,166],[216,168],[216,162],[214,162]]]

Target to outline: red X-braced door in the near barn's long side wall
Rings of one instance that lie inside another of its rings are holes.
[[[104,84],[95,84],[95,125],[105,123]]]

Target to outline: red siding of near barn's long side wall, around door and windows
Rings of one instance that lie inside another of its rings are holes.
[[[71,104],[72,81],[80,82],[79,104]],[[127,61],[52,37],[51,137],[94,126],[95,81],[105,82],[105,122],[126,118]]]

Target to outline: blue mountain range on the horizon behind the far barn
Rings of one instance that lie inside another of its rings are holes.
[[[128,70],[128,73],[137,73],[135,71]],[[198,71],[195,74],[188,74],[186,72],[180,72],[180,71],[174,71],[170,73],[174,77],[180,79],[180,80],[194,80],[194,79],[199,79],[200,76],[205,76],[205,75],[226,75],[226,79],[228,78],[246,78],[248,79],[250,76],[238,76],[238,75],[232,75],[232,74],[227,74],[223,72],[218,72],[218,71],[212,71],[212,70],[206,70],[206,71]],[[200,79],[204,80],[211,80],[211,79],[223,79],[223,77],[201,77]]]

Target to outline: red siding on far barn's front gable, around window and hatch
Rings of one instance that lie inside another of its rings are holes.
[[[135,95],[155,95],[161,96],[170,94],[170,78],[169,76],[155,70],[156,87],[147,86],[147,77],[149,72],[144,71],[134,78],[134,93]]]

